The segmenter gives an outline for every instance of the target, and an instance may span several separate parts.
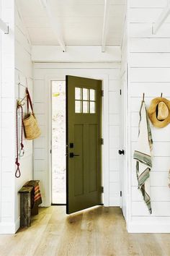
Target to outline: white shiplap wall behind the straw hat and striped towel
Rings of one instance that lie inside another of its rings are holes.
[[[146,106],[153,98],[163,96],[170,99],[170,33],[169,18],[152,34],[156,22],[166,1],[130,0],[129,9],[129,95],[130,95],[130,144],[131,144],[131,221],[143,225],[170,223],[170,190],[168,172],[170,168],[170,126],[157,129],[151,125],[153,134],[153,168],[151,170],[151,205],[150,216],[138,191],[135,176],[133,152],[138,140],[138,112],[142,93],[146,96]],[[147,217],[146,218],[144,218]],[[146,221],[147,220],[147,221]],[[161,230],[161,229],[160,229]],[[131,230],[133,231],[133,230]],[[159,231],[157,229],[157,231]],[[152,230],[151,230],[152,232]]]

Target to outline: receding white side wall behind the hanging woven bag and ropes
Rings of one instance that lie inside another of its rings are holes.
[[[19,82],[21,85],[19,85]],[[25,88],[28,87],[32,96],[32,61],[31,44],[27,35],[27,30],[22,21],[22,13],[19,10],[19,1],[15,2],[15,100],[22,100],[25,96]],[[24,114],[27,113],[27,104],[24,100]],[[15,136],[16,137],[16,136]],[[23,135],[24,138],[24,135]],[[21,119],[19,119],[19,140],[21,140]],[[15,179],[15,218],[20,216],[19,209],[19,189],[25,182],[32,179],[32,140],[23,141],[24,156],[19,158],[21,176]]]

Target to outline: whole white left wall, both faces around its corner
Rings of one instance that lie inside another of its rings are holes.
[[[1,175],[0,233],[15,233],[19,229],[18,190],[32,179],[32,142],[24,141],[25,155],[20,160],[22,176],[14,176],[16,166],[16,102],[24,96],[24,87],[32,92],[31,46],[19,16],[17,1],[1,0],[1,19],[9,24],[9,35],[1,33]]]

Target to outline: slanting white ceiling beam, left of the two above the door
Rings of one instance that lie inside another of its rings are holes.
[[[58,20],[56,19],[55,15],[53,14],[53,10],[50,7],[49,1],[47,0],[40,0],[42,7],[45,8],[48,18],[50,20],[50,25],[53,29],[53,32],[55,33],[58,43],[61,46],[62,51],[66,51],[66,44],[63,40],[63,35],[62,35],[62,29],[61,29],[61,24],[59,24]]]

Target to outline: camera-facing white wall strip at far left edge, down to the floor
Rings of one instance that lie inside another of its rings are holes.
[[[9,35],[1,32],[1,166],[0,233],[14,233],[14,1],[1,0],[1,19],[9,23]]]

